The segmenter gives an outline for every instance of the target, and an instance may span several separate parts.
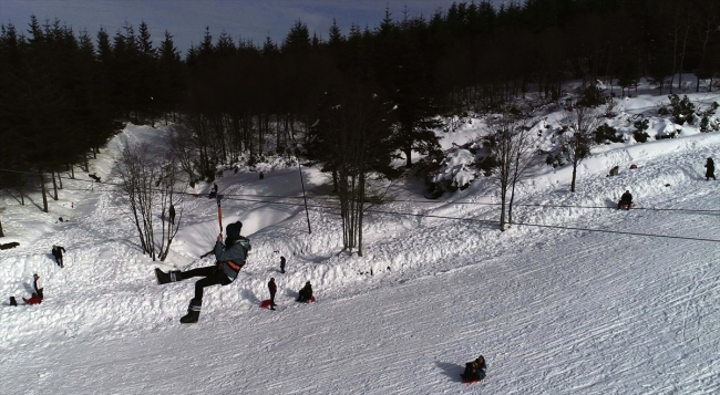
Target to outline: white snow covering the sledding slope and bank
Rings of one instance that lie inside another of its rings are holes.
[[[627,108],[659,101],[641,95]],[[212,263],[197,257],[217,236],[214,200],[188,197],[171,256],[152,262],[106,184],[124,144],[160,144],[162,133],[126,128],[91,163],[104,183],[76,169],[50,214],[39,194],[25,206],[0,196],[0,241],[21,245],[0,252],[3,303],[29,295],[33,273],[45,282],[42,304],[0,308],[0,393],[720,393],[720,184],[702,167],[720,158],[718,132],[599,147],[575,194],[572,169],[538,168],[516,201],[525,225],[505,232],[485,222],[498,217],[486,180],[426,202],[409,178],[392,187],[402,201],[379,210],[412,215],[370,214],[362,258],[340,252],[332,210],[311,208],[308,233],[301,200],[267,198],[300,196],[297,168],[268,165],[264,180],[227,171],[223,221],[243,221],[253,252],[235,283],[206,289],[196,325],[178,323],[194,281],[161,287],[152,272]],[[477,133],[444,134],[444,144]],[[615,165],[620,174],[605,177]],[[310,205],[327,205],[316,188],[326,176],[304,177]],[[625,189],[638,207],[617,211]],[[68,249],[64,269],[52,245]],[[270,277],[278,311],[259,309]],[[298,304],[308,280],[318,302]],[[487,378],[462,384],[479,354]]]

